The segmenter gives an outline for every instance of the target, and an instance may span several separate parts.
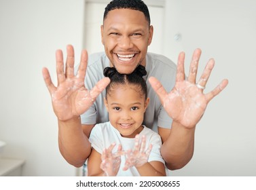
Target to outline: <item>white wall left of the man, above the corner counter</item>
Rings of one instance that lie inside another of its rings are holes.
[[[58,126],[41,75],[56,82],[55,51],[81,51],[84,1],[0,0],[0,139],[24,176],[74,176],[58,150]],[[1,167],[1,166],[0,166]]]

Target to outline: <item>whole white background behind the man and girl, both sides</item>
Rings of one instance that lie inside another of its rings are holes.
[[[149,51],[175,62],[178,53],[185,51],[187,71],[192,52],[201,48],[198,73],[209,58],[216,61],[205,92],[223,78],[230,81],[198,123],[193,159],[172,175],[255,176],[255,1],[162,2],[164,7],[149,8],[156,35]],[[98,7],[96,14],[88,15],[86,5],[84,0],[0,0],[0,140],[7,142],[1,156],[26,159],[24,176],[77,172],[58,151],[57,121],[41,69],[48,67],[56,82],[58,48],[74,45],[76,63],[82,48],[89,53],[98,50],[93,48],[100,47],[100,39],[90,37],[88,24],[96,19],[99,35],[97,19],[102,20],[104,10]]]

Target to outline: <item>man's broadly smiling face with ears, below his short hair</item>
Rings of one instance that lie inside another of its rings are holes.
[[[101,26],[102,43],[110,66],[125,74],[132,73],[139,64],[145,66],[152,35],[153,26],[149,26],[143,12],[111,10]]]

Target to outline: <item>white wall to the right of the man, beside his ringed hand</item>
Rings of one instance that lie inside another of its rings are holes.
[[[200,71],[215,58],[204,92],[230,81],[198,123],[194,157],[172,175],[256,176],[256,1],[170,0],[166,9],[164,54],[176,60],[185,51],[188,69],[192,52],[201,48]]]

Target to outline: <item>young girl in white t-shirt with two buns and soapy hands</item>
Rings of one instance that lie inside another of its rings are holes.
[[[90,134],[88,176],[166,176],[161,138],[142,125],[149,103],[146,74],[141,65],[130,75],[105,69],[111,79],[105,97],[109,121],[96,124]]]

